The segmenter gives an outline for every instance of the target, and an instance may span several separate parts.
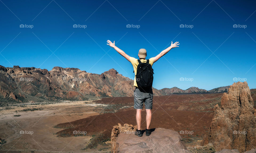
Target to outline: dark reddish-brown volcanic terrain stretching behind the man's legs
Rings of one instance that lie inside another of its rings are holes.
[[[193,131],[193,139],[201,139],[206,134],[213,118],[213,106],[220,103],[222,93],[216,94],[173,94],[170,96],[154,96],[152,109],[152,122],[150,128],[166,128],[175,131],[184,131],[181,134],[185,141],[190,142],[191,137],[187,137]],[[135,113],[133,109],[133,97],[111,97],[94,101],[98,104],[111,104],[102,110],[110,113],[90,116],[73,122],[58,124],[55,128],[64,128],[56,134],[60,137],[73,136],[74,130],[87,131],[88,135],[101,133],[104,139],[110,138],[114,125],[133,124],[136,125]],[[113,106],[131,106],[117,112]],[[145,109],[142,111],[142,128],[145,129],[146,117]],[[75,128],[71,128],[72,125]]]

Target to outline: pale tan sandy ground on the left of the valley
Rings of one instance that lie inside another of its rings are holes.
[[[0,146],[0,152],[106,152],[81,150],[91,136],[57,137],[54,133],[61,129],[53,126],[72,122],[88,116],[97,115],[93,111],[99,104],[91,101],[65,101],[49,105],[25,105],[26,107],[10,106],[9,110],[0,111],[0,137],[6,143]],[[36,111],[21,111],[27,108],[43,108]],[[17,111],[17,112],[15,112]],[[15,117],[14,115],[21,115]],[[71,125],[71,124],[70,124]],[[73,125],[71,125],[73,126]],[[22,134],[22,131],[24,131]]]

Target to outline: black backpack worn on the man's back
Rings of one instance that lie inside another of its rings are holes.
[[[138,88],[141,89],[149,89],[153,84],[153,69],[149,64],[149,60],[146,63],[142,63],[141,60],[138,59],[138,67],[136,76],[136,83]]]

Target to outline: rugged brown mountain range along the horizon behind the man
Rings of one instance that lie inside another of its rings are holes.
[[[186,93],[227,92],[229,86],[212,90],[191,87],[153,88],[154,96]],[[100,97],[133,96],[133,80],[110,69],[93,74],[77,68],[4,67],[0,65],[1,101],[94,100]]]

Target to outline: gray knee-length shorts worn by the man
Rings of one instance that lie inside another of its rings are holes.
[[[153,91],[152,88],[145,91],[143,89],[135,88],[134,90],[134,109],[142,109],[143,102],[146,109],[152,109],[153,105]]]

